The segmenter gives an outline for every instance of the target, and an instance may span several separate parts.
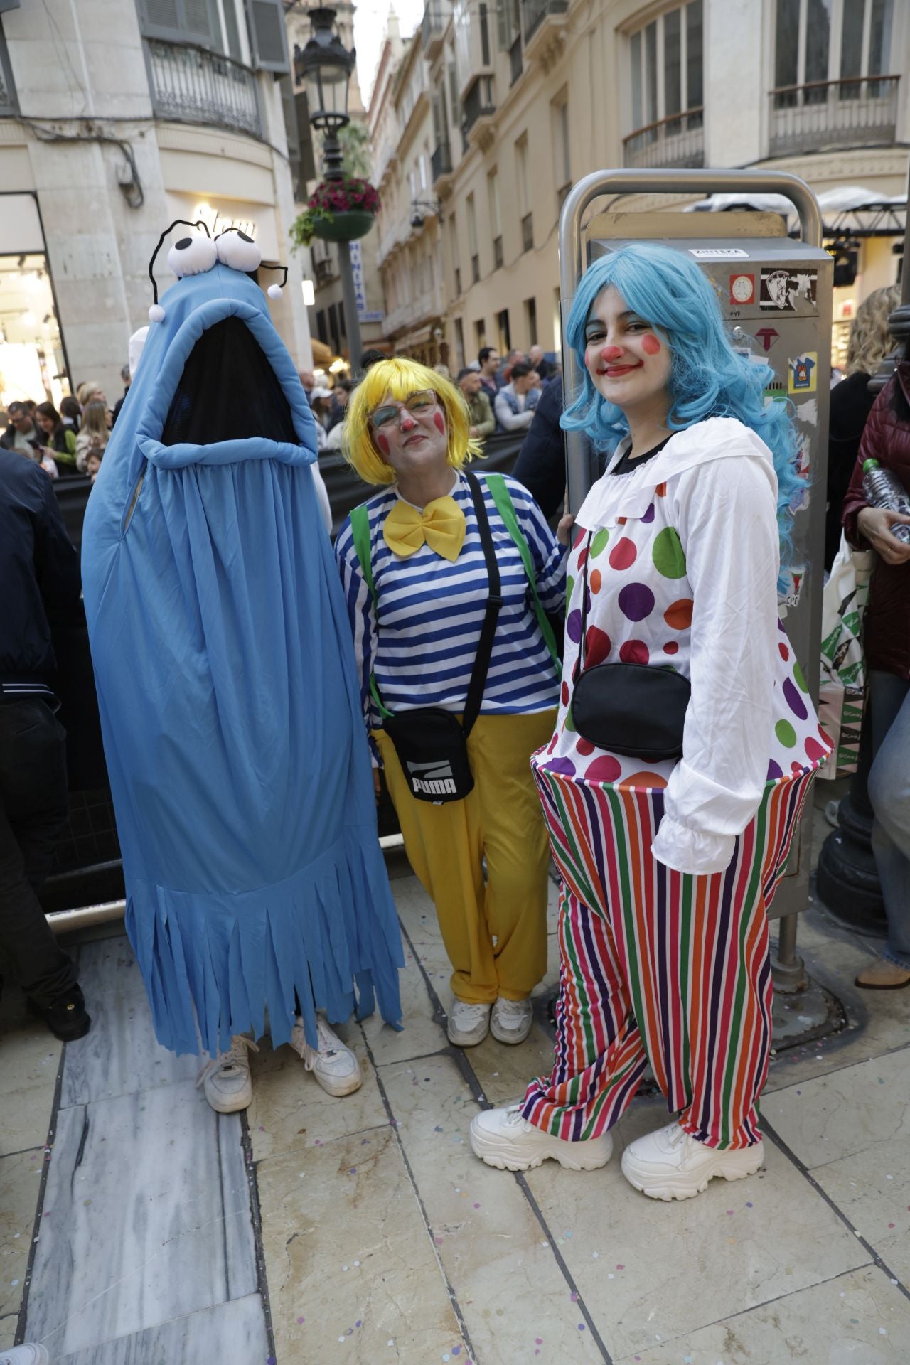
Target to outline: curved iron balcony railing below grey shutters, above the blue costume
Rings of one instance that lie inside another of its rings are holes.
[[[146,38],[145,52],[156,117],[262,136],[256,78],[248,67],[206,48],[162,38]]]

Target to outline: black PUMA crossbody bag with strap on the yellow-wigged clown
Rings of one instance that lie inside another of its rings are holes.
[[[372,698],[385,717],[382,728],[394,744],[411,794],[417,801],[432,801],[434,805],[443,801],[463,801],[468,792],[473,790],[473,773],[468,762],[467,741],[473,722],[480,714],[487,669],[493,654],[493,639],[502,607],[502,583],[487,509],[483,502],[483,490],[473,474],[465,471],[465,478],[471,487],[473,511],[478,517],[478,531],[487,565],[488,592],[480,640],[464,703],[464,715],[458,721],[457,715],[445,711],[441,706],[419,706],[412,711],[392,715],[382,704],[375,682],[370,681]]]

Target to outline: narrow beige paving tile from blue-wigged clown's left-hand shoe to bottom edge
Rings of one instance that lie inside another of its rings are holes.
[[[454,1062],[383,1066],[382,1081],[476,1358],[602,1361],[517,1181],[468,1147],[478,1104]]]

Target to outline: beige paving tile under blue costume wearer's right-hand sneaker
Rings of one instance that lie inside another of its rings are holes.
[[[250,1058],[252,1104],[247,1121],[254,1160],[303,1152],[314,1144],[389,1122],[360,1029],[348,1024],[336,1026],[336,1032],[353,1050],[363,1072],[360,1089],[341,1097],[326,1095],[291,1047],[273,1051],[271,1040],[261,1039],[259,1052]]]

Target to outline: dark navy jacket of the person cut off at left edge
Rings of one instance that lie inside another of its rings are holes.
[[[53,483],[33,460],[0,450],[0,688],[49,682],[56,661],[48,616],[79,602],[79,557]]]

